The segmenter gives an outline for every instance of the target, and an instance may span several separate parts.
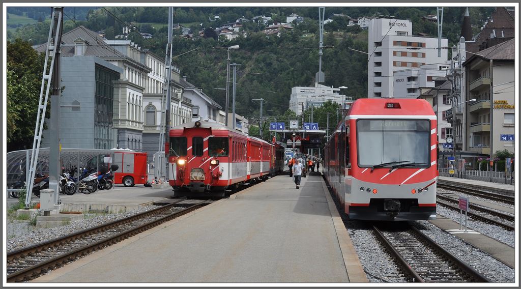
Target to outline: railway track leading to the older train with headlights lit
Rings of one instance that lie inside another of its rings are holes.
[[[7,282],[23,282],[208,204],[175,210],[184,199],[125,219],[102,224],[7,253]]]

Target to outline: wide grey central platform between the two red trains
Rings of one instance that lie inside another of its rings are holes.
[[[315,173],[302,179],[300,190],[287,174],[272,178],[33,282],[346,283],[367,278]]]

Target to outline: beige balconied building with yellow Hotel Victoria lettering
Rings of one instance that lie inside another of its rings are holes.
[[[465,61],[465,100],[476,98],[466,112],[467,150],[487,155],[503,149],[514,152],[514,58],[515,39],[511,39]]]

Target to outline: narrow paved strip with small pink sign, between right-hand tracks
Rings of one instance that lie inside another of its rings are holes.
[[[429,222],[431,222],[432,224],[436,225],[436,227],[444,231],[452,232],[455,236],[461,238],[466,243],[481,249],[483,252],[486,252],[490,256],[505,263],[505,265],[507,265],[508,267],[514,268],[516,262],[516,254],[515,249],[513,247],[503,244],[499,241],[494,240],[493,238],[482,235],[472,230],[470,230],[471,233],[461,232],[460,224],[443,216],[437,215],[436,218],[436,220],[430,220]]]

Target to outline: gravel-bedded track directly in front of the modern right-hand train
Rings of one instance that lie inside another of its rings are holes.
[[[401,265],[411,282],[490,282],[414,227],[373,230]]]

